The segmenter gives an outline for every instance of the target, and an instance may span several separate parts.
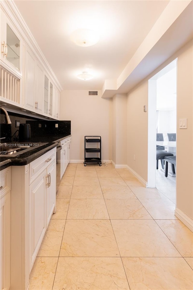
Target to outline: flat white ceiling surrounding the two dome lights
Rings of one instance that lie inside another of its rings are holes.
[[[117,79],[169,1],[14,1],[65,90],[100,90]],[[73,31],[90,28],[97,44],[79,47]],[[94,78],[77,79],[87,71]]]

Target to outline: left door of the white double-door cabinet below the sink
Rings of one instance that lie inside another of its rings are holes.
[[[31,266],[46,231],[46,171],[30,185]]]

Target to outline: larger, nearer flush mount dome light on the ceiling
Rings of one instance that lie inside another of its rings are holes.
[[[77,29],[71,34],[71,40],[78,46],[86,47],[99,41],[99,35],[91,29]]]

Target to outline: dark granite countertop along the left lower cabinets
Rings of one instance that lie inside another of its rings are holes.
[[[25,149],[23,151],[11,154],[11,155],[0,155],[0,170],[3,170],[9,166],[22,166],[27,165],[36,158],[42,156],[52,148],[57,146],[57,142],[60,140],[70,137],[71,135],[46,135],[42,137],[33,137],[30,140],[17,140],[9,141],[7,144],[20,143],[36,143],[35,146]]]

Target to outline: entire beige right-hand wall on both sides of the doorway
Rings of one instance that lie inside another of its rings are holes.
[[[177,61],[177,174],[176,206],[193,220],[193,44],[188,42],[169,60],[128,93],[127,101],[127,165],[147,181],[147,113],[148,79],[172,60]],[[179,118],[188,119],[188,128],[179,129]],[[135,161],[133,155],[135,154]]]

